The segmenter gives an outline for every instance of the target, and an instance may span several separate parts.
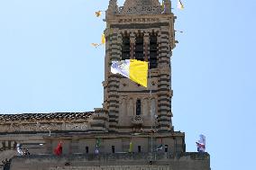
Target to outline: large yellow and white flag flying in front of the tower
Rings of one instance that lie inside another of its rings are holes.
[[[111,72],[121,74],[144,87],[148,85],[148,62],[137,59],[112,61]]]

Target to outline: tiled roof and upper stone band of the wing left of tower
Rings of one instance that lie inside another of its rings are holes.
[[[0,132],[49,131],[50,133],[56,130],[98,130],[104,127],[107,114],[101,108],[95,110],[95,112],[0,114]]]

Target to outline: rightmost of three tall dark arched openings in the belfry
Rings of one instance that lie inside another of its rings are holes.
[[[158,67],[158,40],[157,40],[157,35],[155,32],[151,34],[150,37],[150,68],[156,68]]]

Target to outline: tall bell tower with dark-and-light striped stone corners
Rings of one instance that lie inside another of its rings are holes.
[[[173,131],[171,63],[175,48],[175,16],[170,0],[110,0],[106,11],[104,109],[109,131]],[[110,72],[113,60],[148,61],[148,87]]]

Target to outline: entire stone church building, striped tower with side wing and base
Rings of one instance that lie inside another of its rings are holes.
[[[14,157],[11,170],[210,169],[209,155],[188,154],[185,133],[172,126],[170,58],[176,16],[170,0],[163,2],[164,9],[158,0],[126,0],[120,7],[109,1],[103,108],[0,115],[0,155],[17,143],[32,154]],[[148,88],[110,72],[112,61],[130,58],[149,62]],[[53,155],[59,141],[63,157]]]

